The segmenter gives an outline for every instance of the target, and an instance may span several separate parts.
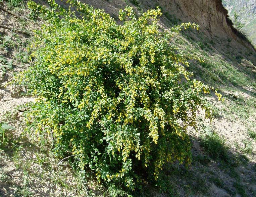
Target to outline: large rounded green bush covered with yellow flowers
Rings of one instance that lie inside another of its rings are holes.
[[[205,108],[199,92],[212,88],[190,80],[188,56],[169,38],[198,26],[160,32],[159,8],[136,18],[131,7],[120,10],[118,25],[102,10],[71,4],[81,18],[29,3],[49,17],[31,46],[34,65],[20,77],[39,97],[27,114],[35,134],[52,138],[56,155],[72,156],[74,168],[126,189],[157,180],[166,162],[188,164],[186,128]]]

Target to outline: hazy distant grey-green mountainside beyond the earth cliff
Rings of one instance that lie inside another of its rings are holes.
[[[222,3],[232,19],[234,19],[235,12],[239,14],[245,25],[242,30],[252,40],[253,44],[256,45],[256,1],[223,0]]]

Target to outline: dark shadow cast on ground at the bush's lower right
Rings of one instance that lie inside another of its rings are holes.
[[[214,137],[194,139],[192,164],[168,164],[162,171],[162,192],[146,186],[135,196],[256,196],[256,163],[228,149]],[[210,149],[210,150],[209,150]]]

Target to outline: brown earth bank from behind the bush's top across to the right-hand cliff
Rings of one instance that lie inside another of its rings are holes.
[[[61,1],[57,2],[61,3]],[[221,43],[222,46],[228,43],[241,53],[248,50],[254,51],[253,45],[241,37],[241,34],[233,27],[233,23],[228,18],[227,10],[223,7],[221,0],[84,0],[82,2],[89,3],[95,8],[104,9],[115,19],[118,19],[119,9],[123,9],[127,4],[134,6],[138,14],[160,6],[164,13],[161,17],[161,23],[165,28],[168,28],[173,20],[196,22],[200,25],[199,33],[204,34],[204,37],[212,40],[221,40],[221,42],[224,42]],[[232,39],[231,42],[227,42],[228,38]],[[256,57],[253,55],[248,56],[248,54],[243,56],[256,62]]]

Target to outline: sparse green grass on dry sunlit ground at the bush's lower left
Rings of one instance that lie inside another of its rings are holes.
[[[1,120],[8,123],[17,122],[16,113],[15,110],[9,112],[3,115]],[[85,171],[75,174],[68,170],[69,166],[58,166],[58,159],[51,153],[50,147],[39,147],[25,135],[16,137],[14,131],[6,134],[5,143],[0,145],[0,158],[9,158],[8,165],[14,166],[20,180],[16,182],[0,165],[0,182],[4,183],[7,189],[12,186],[11,192],[14,196],[33,197],[35,192],[42,192],[40,189],[36,191],[35,187],[41,188],[49,183],[52,185],[52,188],[47,188],[52,192],[50,197],[57,196],[54,194],[54,188],[58,188],[58,192],[63,195],[66,191],[81,197],[95,196],[95,188],[97,192],[106,193],[103,186],[94,182]],[[90,189],[90,185],[93,185],[93,189]]]

